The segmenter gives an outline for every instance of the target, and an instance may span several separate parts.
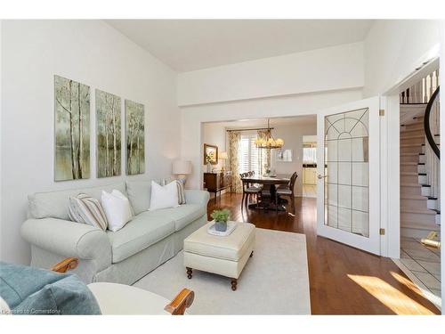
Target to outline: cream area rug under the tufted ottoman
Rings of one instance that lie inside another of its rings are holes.
[[[134,286],[167,299],[192,289],[189,314],[311,314],[305,235],[257,228],[255,237],[236,291],[229,278],[212,273],[194,270],[189,280],[182,252]]]

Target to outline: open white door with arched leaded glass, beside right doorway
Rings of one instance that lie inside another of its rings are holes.
[[[318,113],[317,232],[380,254],[379,98]]]

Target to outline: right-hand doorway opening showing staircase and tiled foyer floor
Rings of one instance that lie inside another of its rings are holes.
[[[441,307],[439,67],[400,94],[401,258],[394,260]]]

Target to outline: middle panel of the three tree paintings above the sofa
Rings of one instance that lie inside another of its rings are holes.
[[[120,175],[120,97],[96,89],[97,176]]]

